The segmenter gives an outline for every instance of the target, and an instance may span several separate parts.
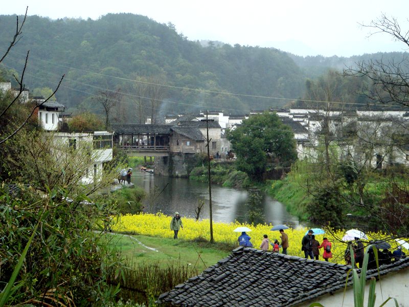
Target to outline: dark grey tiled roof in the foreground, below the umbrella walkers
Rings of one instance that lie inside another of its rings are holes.
[[[409,267],[409,258],[380,266],[380,274]],[[345,287],[350,266],[238,248],[158,302],[177,306],[291,306]],[[367,278],[377,270],[368,271]],[[349,274],[351,284],[352,274]]]

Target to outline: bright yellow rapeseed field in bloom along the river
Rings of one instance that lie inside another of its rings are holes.
[[[122,233],[130,234],[142,234],[155,237],[173,238],[173,231],[170,230],[170,221],[172,216],[168,216],[162,213],[156,214],[135,214],[135,215],[122,215],[115,225],[112,225],[112,230]],[[179,231],[178,237],[182,240],[194,240],[196,238],[210,239],[210,223],[209,220],[197,221],[193,218],[182,217],[184,228]],[[280,241],[279,231],[270,231],[272,225],[259,224],[249,225],[235,223],[213,223],[213,237],[218,243],[226,243],[228,245],[236,244],[238,246],[237,238],[241,233],[233,232],[237,227],[245,226],[252,229],[247,234],[252,237],[251,242],[254,248],[259,248],[263,235],[267,234],[270,242],[274,242],[274,239]],[[288,255],[295,255],[304,257],[304,252],[301,251],[301,240],[305,235],[308,228],[286,229],[288,234],[289,248],[287,249]],[[326,236],[332,243],[333,258],[331,262],[344,263],[344,251],[347,244],[342,242],[341,238],[344,236],[345,231],[325,229],[325,235],[316,235],[320,243],[322,243],[323,237]],[[367,232],[367,236],[370,239],[381,239],[387,237],[384,233],[371,233]],[[395,249],[396,243],[389,242],[392,248]],[[270,246],[271,249],[271,246]],[[323,250],[320,249],[320,259],[322,258]]]

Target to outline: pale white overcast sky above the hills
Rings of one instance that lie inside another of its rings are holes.
[[[26,0],[9,1],[0,14],[47,16],[52,19],[97,19],[107,13],[134,13],[172,23],[190,40],[218,40],[234,45],[275,47],[298,55],[352,56],[404,51],[387,34],[368,37],[368,25],[381,13],[409,29],[408,0]]]

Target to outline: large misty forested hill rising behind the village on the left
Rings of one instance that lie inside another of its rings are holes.
[[[15,31],[15,19],[0,16],[2,51]],[[125,93],[123,100],[131,109],[138,95],[130,80],[137,76],[171,86],[164,87],[164,112],[197,111],[206,105],[237,114],[287,102],[209,91],[285,98],[303,95],[304,76],[284,52],[212,43],[202,47],[178,34],[171,24],[141,15],[107,14],[98,20],[28,16],[22,38],[4,61],[6,68],[21,72],[27,50],[26,84],[31,90],[53,89],[65,74],[56,96],[71,110],[97,111],[101,107],[91,98],[99,91],[117,89]]]

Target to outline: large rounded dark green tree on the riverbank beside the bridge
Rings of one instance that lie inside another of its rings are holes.
[[[261,181],[269,163],[289,166],[297,159],[296,141],[287,125],[276,114],[254,115],[234,130],[228,139],[237,155],[237,167]]]

